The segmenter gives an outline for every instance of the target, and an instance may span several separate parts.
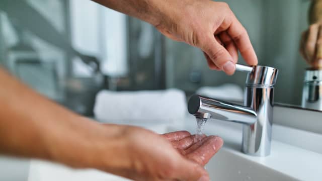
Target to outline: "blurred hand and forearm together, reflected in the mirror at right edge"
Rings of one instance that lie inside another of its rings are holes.
[[[322,68],[322,0],[312,1],[309,27],[302,33],[300,53],[313,69]]]

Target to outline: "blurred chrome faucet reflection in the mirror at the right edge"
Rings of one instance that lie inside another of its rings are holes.
[[[306,69],[302,107],[322,111],[322,69]]]

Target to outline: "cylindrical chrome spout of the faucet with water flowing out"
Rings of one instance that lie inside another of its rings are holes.
[[[199,95],[190,98],[188,111],[198,118],[212,118],[247,125],[254,124],[257,120],[257,114],[252,108]],[[205,115],[206,113],[209,115]]]

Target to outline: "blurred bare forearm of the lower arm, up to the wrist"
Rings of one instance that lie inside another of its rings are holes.
[[[102,125],[34,93],[1,67],[0,82],[0,153],[95,166]]]

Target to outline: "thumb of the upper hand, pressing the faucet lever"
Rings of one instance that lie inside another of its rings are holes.
[[[214,64],[226,74],[232,75],[236,65],[228,51],[214,37],[209,38],[202,46],[202,50],[207,53]]]

